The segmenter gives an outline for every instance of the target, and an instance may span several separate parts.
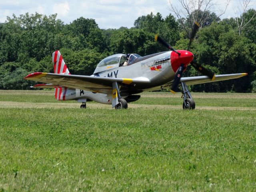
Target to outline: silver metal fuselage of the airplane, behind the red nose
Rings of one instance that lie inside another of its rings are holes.
[[[131,78],[138,80],[150,80],[148,86],[138,87],[135,90],[130,88],[130,92],[122,92],[120,87],[120,94],[122,98],[128,95],[136,94],[143,91],[160,90],[161,86],[172,81],[175,75],[170,62],[171,51],[163,52],[156,56],[148,57],[145,60],[136,62],[129,66],[107,66],[95,70],[92,76],[112,77],[112,78]],[[93,100],[102,104],[112,104],[112,94],[94,93],[86,90],[68,88],[66,91],[65,100],[77,100],[78,102],[86,102]]]

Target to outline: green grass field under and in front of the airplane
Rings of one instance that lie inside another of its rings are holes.
[[[255,191],[256,94],[143,93],[127,110],[0,90],[0,191]]]

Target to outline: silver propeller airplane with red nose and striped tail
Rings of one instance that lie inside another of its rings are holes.
[[[184,109],[194,109],[187,85],[201,84],[240,78],[247,73],[216,75],[193,61],[194,55],[189,52],[198,24],[194,24],[187,50],[175,50],[167,42],[156,35],[155,41],[166,46],[170,51],[155,53],[148,56],[130,54],[115,54],[103,59],[91,76],[71,75],[60,52],[52,54],[54,73],[35,72],[24,79],[44,82],[33,88],[54,88],[57,100],[77,100],[82,102],[81,108],[86,108],[86,102],[96,101],[102,104],[112,104],[112,108],[127,108],[128,102],[140,98],[137,95],[143,91],[162,90],[170,88],[175,93],[177,87],[182,88]],[[123,66],[128,62],[128,66]],[[191,64],[205,76],[182,77]]]

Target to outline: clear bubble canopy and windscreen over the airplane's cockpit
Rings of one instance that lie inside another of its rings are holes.
[[[134,63],[136,58],[141,57],[138,54],[130,54],[130,57],[128,59],[128,65],[131,65]],[[124,62],[126,61],[126,55],[125,54],[115,54],[108,56],[101,60],[99,64],[97,65],[94,74],[102,71],[106,71],[109,69],[114,69],[122,66]]]

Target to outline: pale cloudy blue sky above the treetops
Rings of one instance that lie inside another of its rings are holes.
[[[131,28],[134,21],[142,15],[160,12],[163,17],[170,13],[172,0],[1,0],[0,22],[5,22],[6,17],[12,14],[34,14],[38,12],[49,16],[57,13],[57,18],[69,24],[77,18],[95,19],[99,28]],[[173,0],[177,3],[177,0]],[[216,0],[218,9],[224,8],[225,0]],[[222,18],[236,16],[235,11],[239,0],[230,0],[230,5]],[[178,4],[177,4],[178,5]],[[256,0],[251,0],[251,7],[256,9]],[[217,8],[215,8],[217,10]],[[173,14],[173,13],[172,13]],[[173,14],[174,15],[174,14]]]

